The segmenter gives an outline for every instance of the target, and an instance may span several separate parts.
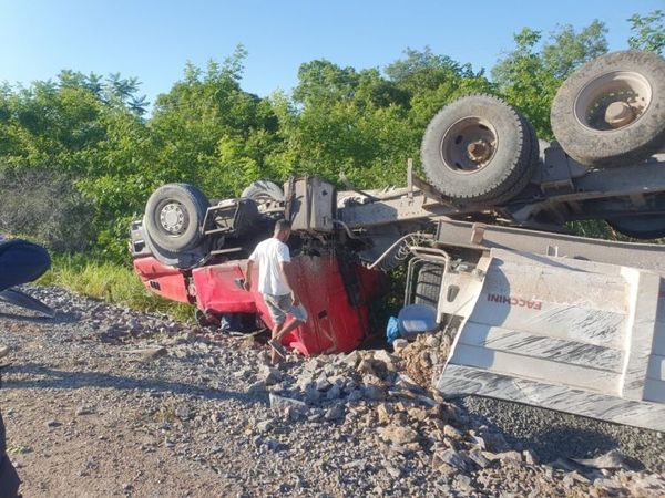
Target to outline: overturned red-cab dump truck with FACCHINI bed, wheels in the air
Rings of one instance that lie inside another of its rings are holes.
[[[209,203],[158,188],[131,227],[145,286],[272,325],[243,289],[246,258],[276,219],[295,231],[290,280],[310,320],[284,339],[303,354],[370,334],[383,270],[408,262],[405,304],[432,307],[453,344],[436,386],[665,430],[665,246],[570,235],[604,220],[632,239],[665,237],[665,60],[617,52],[577,70],[539,141],[489,95],[443,107],[421,146],[427,179],[345,191],[317,177],[256,181]]]

